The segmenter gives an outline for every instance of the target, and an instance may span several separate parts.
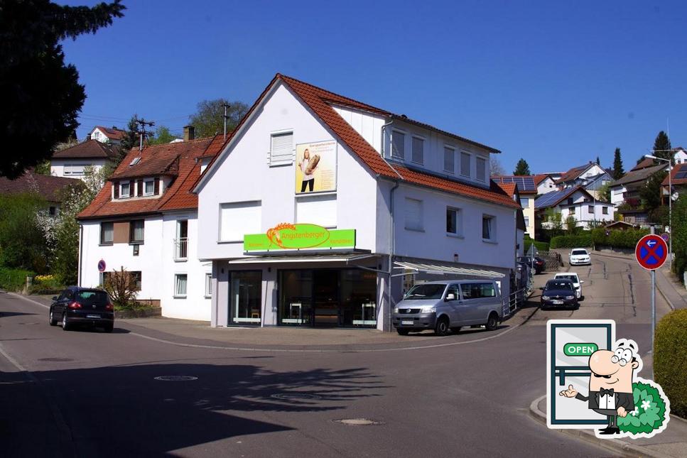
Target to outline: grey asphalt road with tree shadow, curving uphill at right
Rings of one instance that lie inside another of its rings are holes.
[[[577,271],[585,280],[580,310],[537,310],[495,339],[333,354],[178,347],[122,322],[113,334],[63,332],[48,326],[45,308],[0,293],[1,454],[608,456],[528,414],[546,391],[546,320],[611,318],[618,337],[649,348],[647,272],[600,256]],[[669,310],[660,295],[657,307],[659,316]],[[170,375],[196,379],[156,380]],[[273,397],[285,393],[310,398]],[[352,418],[376,424],[336,421]]]

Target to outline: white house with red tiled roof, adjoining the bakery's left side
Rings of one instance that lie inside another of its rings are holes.
[[[137,300],[161,304],[165,317],[210,320],[211,264],[198,260],[198,196],[190,187],[224,139],[194,140],[192,131],[186,138],[129,151],[79,214],[78,278],[102,285],[124,267],[139,285]]]

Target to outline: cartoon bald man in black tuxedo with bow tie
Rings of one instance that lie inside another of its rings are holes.
[[[637,343],[629,339],[617,341],[615,351],[597,350],[589,357],[589,396],[575,391],[572,385],[559,396],[575,398],[589,403],[589,408],[608,418],[608,426],[601,435],[620,434],[617,417],[627,416],[634,410],[632,381],[642,369],[642,359],[637,354]]]

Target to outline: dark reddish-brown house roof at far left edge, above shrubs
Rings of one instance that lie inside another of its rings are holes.
[[[56,216],[60,212],[64,192],[68,187],[77,185],[81,185],[81,180],[26,172],[16,180],[0,177],[0,194],[12,195],[36,192],[48,202],[48,214]]]

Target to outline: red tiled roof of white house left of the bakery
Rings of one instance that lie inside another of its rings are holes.
[[[192,141],[146,146],[132,149],[121,161],[112,177],[95,199],[79,215],[79,219],[100,219],[129,215],[156,214],[177,209],[198,208],[198,195],[190,192],[200,176],[200,158],[215,155],[224,146],[223,136]],[[138,163],[129,165],[134,158]],[[172,167],[173,166],[173,167]],[[173,170],[172,170],[173,168]],[[168,175],[173,178],[163,195],[157,198],[112,200],[112,185],[122,179]]]

